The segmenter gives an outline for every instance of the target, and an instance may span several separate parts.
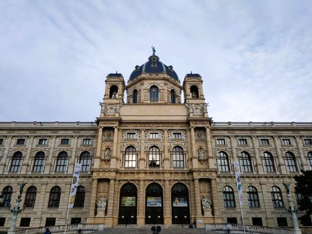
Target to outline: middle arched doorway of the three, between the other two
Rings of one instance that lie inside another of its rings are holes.
[[[151,183],[147,186],[145,194],[145,223],[163,224],[163,214],[162,188],[157,183]]]

